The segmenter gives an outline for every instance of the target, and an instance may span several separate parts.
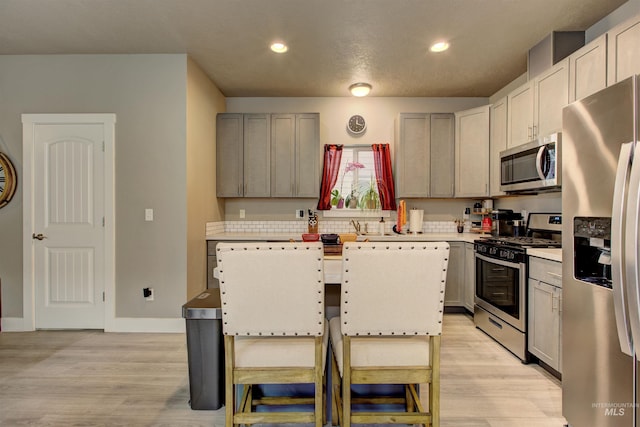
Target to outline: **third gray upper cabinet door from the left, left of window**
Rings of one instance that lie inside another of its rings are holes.
[[[291,197],[295,181],[295,114],[271,115],[271,196]]]

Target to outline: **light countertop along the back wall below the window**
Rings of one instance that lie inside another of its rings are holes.
[[[379,234],[365,234],[359,235],[358,241],[364,241],[369,239],[372,242],[465,242],[473,243],[474,240],[482,237],[482,234],[478,233],[421,233],[421,234],[385,234],[380,236]],[[276,241],[284,242],[294,239],[295,241],[302,241],[302,235],[297,233],[217,233],[209,234],[206,236],[207,240],[219,240],[219,241]]]

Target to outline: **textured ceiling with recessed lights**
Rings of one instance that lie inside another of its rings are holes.
[[[187,53],[229,97],[490,96],[625,0],[0,0],[0,54]],[[447,39],[451,48],[428,52]],[[289,51],[269,50],[283,40]]]

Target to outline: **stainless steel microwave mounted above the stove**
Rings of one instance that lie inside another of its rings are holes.
[[[558,132],[500,152],[500,190],[560,191],[561,141]]]

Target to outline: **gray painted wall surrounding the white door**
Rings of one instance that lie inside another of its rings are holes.
[[[186,298],[186,55],[0,56],[0,149],[22,173],[22,113],[115,113],[116,316]],[[153,222],[144,221],[152,208]],[[22,317],[22,187],[0,210],[3,317]],[[145,302],[142,288],[155,289]],[[114,298],[113,295],[107,296]]]

